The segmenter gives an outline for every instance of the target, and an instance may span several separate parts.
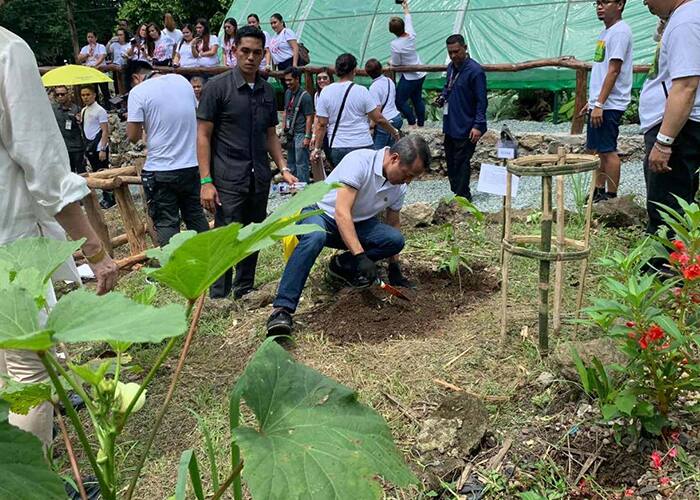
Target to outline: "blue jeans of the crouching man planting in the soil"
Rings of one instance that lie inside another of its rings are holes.
[[[316,210],[316,206],[305,208],[303,211]],[[277,289],[274,307],[284,307],[294,312],[299,304],[299,297],[309,277],[316,258],[324,247],[345,250],[347,247],[340,237],[340,231],[335,219],[328,214],[314,215],[300,221],[301,224],[318,224],[323,231],[299,236],[299,244],[284,268],[282,281]],[[397,255],[404,247],[405,241],[401,231],[382,224],[376,218],[355,222],[357,237],[365,249],[367,257],[379,261]]]

